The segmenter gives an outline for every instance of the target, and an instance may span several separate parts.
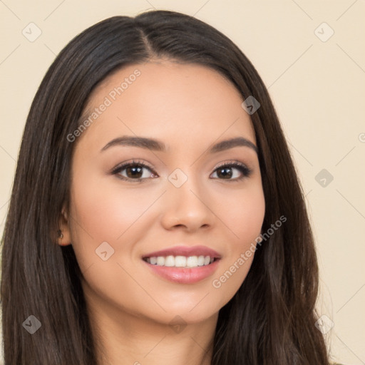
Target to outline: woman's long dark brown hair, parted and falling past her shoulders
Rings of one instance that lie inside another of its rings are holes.
[[[267,88],[229,38],[192,16],[148,11],[114,16],[73,38],[48,69],[26,120],[2,239],[5,365],[98,364],[72,245],[57,244],[69,204],[73,148],[88,97],[112,72],[151,58],[220,72],[261,107],[251,115],[266,212],[282,227],[255,253],[250,272],[220,310],[213,365],[329,364],[315,327],[318,267],[302,187]],[[29,334],[33,315],[41,330]],[[24,328],[23,328],[24,327]]]

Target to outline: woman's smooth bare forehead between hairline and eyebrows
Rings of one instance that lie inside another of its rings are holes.
[[[242,100],[230,81],[205,66],[172,61],[133,64],[108,76],[93,91],[81,118],[92,123],[82,138],[107,143],[119,135],[143,135],[165,140],[168,146],[180,141],[186,147],[242,135],[255,143]]]

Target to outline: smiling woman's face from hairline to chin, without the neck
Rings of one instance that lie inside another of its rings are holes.
[[[241,104],[216,71],[170,61],[125,67],[96,88],[68,137],[76,149],[61,243],[72,242],[88,304],[193,323],[234,296],[265,209]]]

